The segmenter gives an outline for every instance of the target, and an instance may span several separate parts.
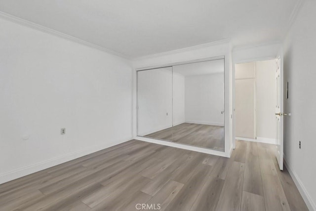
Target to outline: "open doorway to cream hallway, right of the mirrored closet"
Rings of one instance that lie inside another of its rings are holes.
[[[276,59],[235,65],[236,139],[276,144]]]

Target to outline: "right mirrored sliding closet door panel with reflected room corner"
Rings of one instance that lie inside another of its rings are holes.
[[[173,142],[224,151],[224,59],[173,66]]]

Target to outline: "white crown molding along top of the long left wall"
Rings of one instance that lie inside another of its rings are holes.
[[[102,46],[97,45],[97,44],[93,44],[91,42],[83,41],[83,40],[81,40],[79,38],[76,38],[76,37],[73,37],[73,36],[70,36],[70,35],[58,32],[56,30],[44,27],[44,26],[42,26],[40,24],[37,24],[37,23],[31,22],[31,21],[28,21],[28,20],[16,17],[14,15],[7,14],[7,13],[2,12],[2,11],[0,11],[0,17],[5,19],[5,20],[8,20],[8,21],[11,21],[11,22],[23,25],[23,26],[27,26],[27,27],[30,27],[32,29],[36,29],[36,30],[39,30],[41,32],[48,33],[48,34],[51,34],[51,35],[54,35],[54,36],[57,36],[57,37],[60,37],[60,38],[72,41],[72,42],[77,42],[79,44],[83,44],[83,45],[86,45],[88,47],[92,47],[92,48],[101,50],[101,51],[109,53],[109,54],[116,55],[116,56],[124,58],[124,59],[131,59],[130,56],[127,56],[125,54],[119,53],[117,51],[110,50],[108,48],[102,47]]]

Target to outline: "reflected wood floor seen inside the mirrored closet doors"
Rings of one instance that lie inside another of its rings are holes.
[[[224,151],[223,126],[183,123],[145,136]]]

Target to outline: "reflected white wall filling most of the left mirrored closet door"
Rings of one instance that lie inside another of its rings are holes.
[[[138,135],[172,127],[172,68],[137,73]]]

